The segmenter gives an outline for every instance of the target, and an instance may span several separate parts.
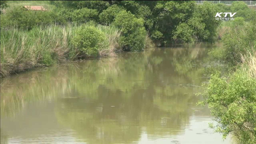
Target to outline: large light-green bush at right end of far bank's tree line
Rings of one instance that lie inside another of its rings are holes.
[[[175,42],[215,41],[219,22],[212,17],[218,12],[218,7],[210,2],[195,7],[192,16],[175,27],[172,33]]]

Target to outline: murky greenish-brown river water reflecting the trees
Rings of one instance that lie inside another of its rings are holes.
[[[1,144],[233,144],[201,100],[213,46],[153,48],[1,80]]]

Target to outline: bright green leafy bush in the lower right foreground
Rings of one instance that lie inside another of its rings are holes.
[[[247,73],[238,70],[230,78],[212,75],[203,94],[211,108],[216,126],[210,126],[223,134],[237,136],[241,144],[256,142],[256,80]]]

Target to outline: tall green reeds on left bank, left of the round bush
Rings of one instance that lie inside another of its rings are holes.
[[[74,26],[36,27],[30,31],[1,30],[1,76],[36,66],[64,61],[69,52]]]

